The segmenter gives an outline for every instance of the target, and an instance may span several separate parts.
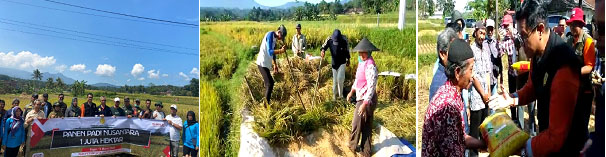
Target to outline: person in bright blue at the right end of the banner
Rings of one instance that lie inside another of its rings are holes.
[[[187,111],[187,120],[183,123],[183,155],[186,157],[195,157],[198,155],[200,146],[199,124],[196,121],[194,111]]]

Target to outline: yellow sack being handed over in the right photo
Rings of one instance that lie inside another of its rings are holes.
[[[505,112],[497,112],[486,117],[480,125],[480,132],[492,157],[515,154],[530,138]]]

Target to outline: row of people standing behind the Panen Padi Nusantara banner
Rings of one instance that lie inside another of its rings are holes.
[[[152,108],[152,101],[145,100],[145,105],[141,105],[139,99],[135,99],[135,104],[130,103],[129,97],[124,97],[124,105],[120,105],[121,99],[114,98],[113,106],[106,104],[107,98],[99,98],[101,104],[93,103],[94,95],[88,93],[86,101],[78,103],[78,98],[73,97],[70,105],[64,102],[65,95],[58,95],[57,102],[51,104],[48,102],[48,94],[43,94],[40,99],[38,94],[33,94],[29,104],[22,109],[19,107],[21,101],[15,98],[8,110],[5,110],[5,101],[0,100],[0,136],[4,150],[4,156],[18,156],[20,150],[25,150],[25,141],[27,130],[35,119],[69,118],[69,117],[127,117],[163,120],[168,123],[170,134],[170,154],[178,156],[180,141],[183,141],[183,156],[197,156],[199,150],[199,124],[194,111],[188,111],[186,120],[183,122],[177,115],[177,105],[170,105],[170,111],[164,112],[164,105],[157,101]]]

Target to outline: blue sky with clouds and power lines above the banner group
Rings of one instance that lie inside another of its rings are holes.
[[[76,80],[86,80],[88,84],[154,83],[181,86],[188,84],[192,77],[199,77],[197,1],[60,2],[196,26],[158,24],[161,22],[40,0],[1,0],[0,67],[25,71],[39,68],[42,72],[63,73]],[[111,45],[70,39],[105,42]],[[136,64],[140,66],[135,66]]]

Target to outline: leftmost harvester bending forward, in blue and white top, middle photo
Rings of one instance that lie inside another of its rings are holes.
[[[257,55],[257,67],[261,76],[263,76],[263,83],[265,85],[265,100],[267,104],[270,104],[271,91],[274,89],[274,79],[271,76],[270,70],[273,69],[274,73],[278,72],[278,64],[276,64],[276,54],[284,53],[286,51],[285,46],[274,50],[276,47],[276,39],[284,41],[286,36],[286,27],[281,25],[276,31],[270,31],[265,34],[261,46],[259,46],[259,55]]]

